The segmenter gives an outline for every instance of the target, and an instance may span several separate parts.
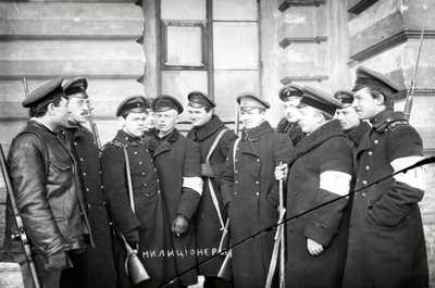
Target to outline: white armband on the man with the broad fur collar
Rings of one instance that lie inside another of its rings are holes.
[[[339,171],[325,171],[320,175],[320,187],[323,190],[345,196],[349,193],[352,176]]]

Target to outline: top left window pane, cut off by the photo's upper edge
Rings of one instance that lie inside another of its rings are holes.
[[[162,20],[206,20],[207,0],[161,0]]]

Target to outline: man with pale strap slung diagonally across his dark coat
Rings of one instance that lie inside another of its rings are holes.
[[[223,208],[220,185],[228,149],[236,135],[213,113],[216,104],[207,95],[192,91],[187,99],[187,110],[194,125],[187,138],[201,148],[201,174],[204,184],[196,215],[197,247],[202,251],[201,255],[198,254],[198,262],[201,262],[217,252],[225,229],[226,211]],[[199,267],[199,274],[206,276],[204,288],[232,287],[229,281],[216,277],[222,262],[223,258],[215,258]]]

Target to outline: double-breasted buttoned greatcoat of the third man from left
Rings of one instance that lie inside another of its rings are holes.
[[[124,149],[126,148],[132,175],[135,213],[129,205],[128,183]],[[162,210],[159,179],[151,155],[141,139],[119,130],[116,137],[102,148],[102,180],[109,199],[109,210],[114,224],[126,235],[139,230],[139,259],[150,279],[144,287],[160,287],[173,276],[173,259],[159,256],[165,253],[169,236]],[[115,238],[114,252],[119,270],[119,287],[133,287],[124,272],[125,249]],[[163,252],[162,252],[163,251]]]

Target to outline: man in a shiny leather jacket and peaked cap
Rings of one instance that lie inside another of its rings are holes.
[[[62,271],[71,266],[69,253],[86,248],[84,233],[90,233],[84,197],[77,189],[73,155],[58,137],[67,124],[67,98],[54,79],[23,101],[30,121],[15,136],[9,153],[9,171],[16,205],[33,245],[34,261],[42,287],[59,287]],[[14,235],[9,209],[7,235]],[[33,287],[25,258],[17,241],[7,243],[16,251],[25,287]]]

